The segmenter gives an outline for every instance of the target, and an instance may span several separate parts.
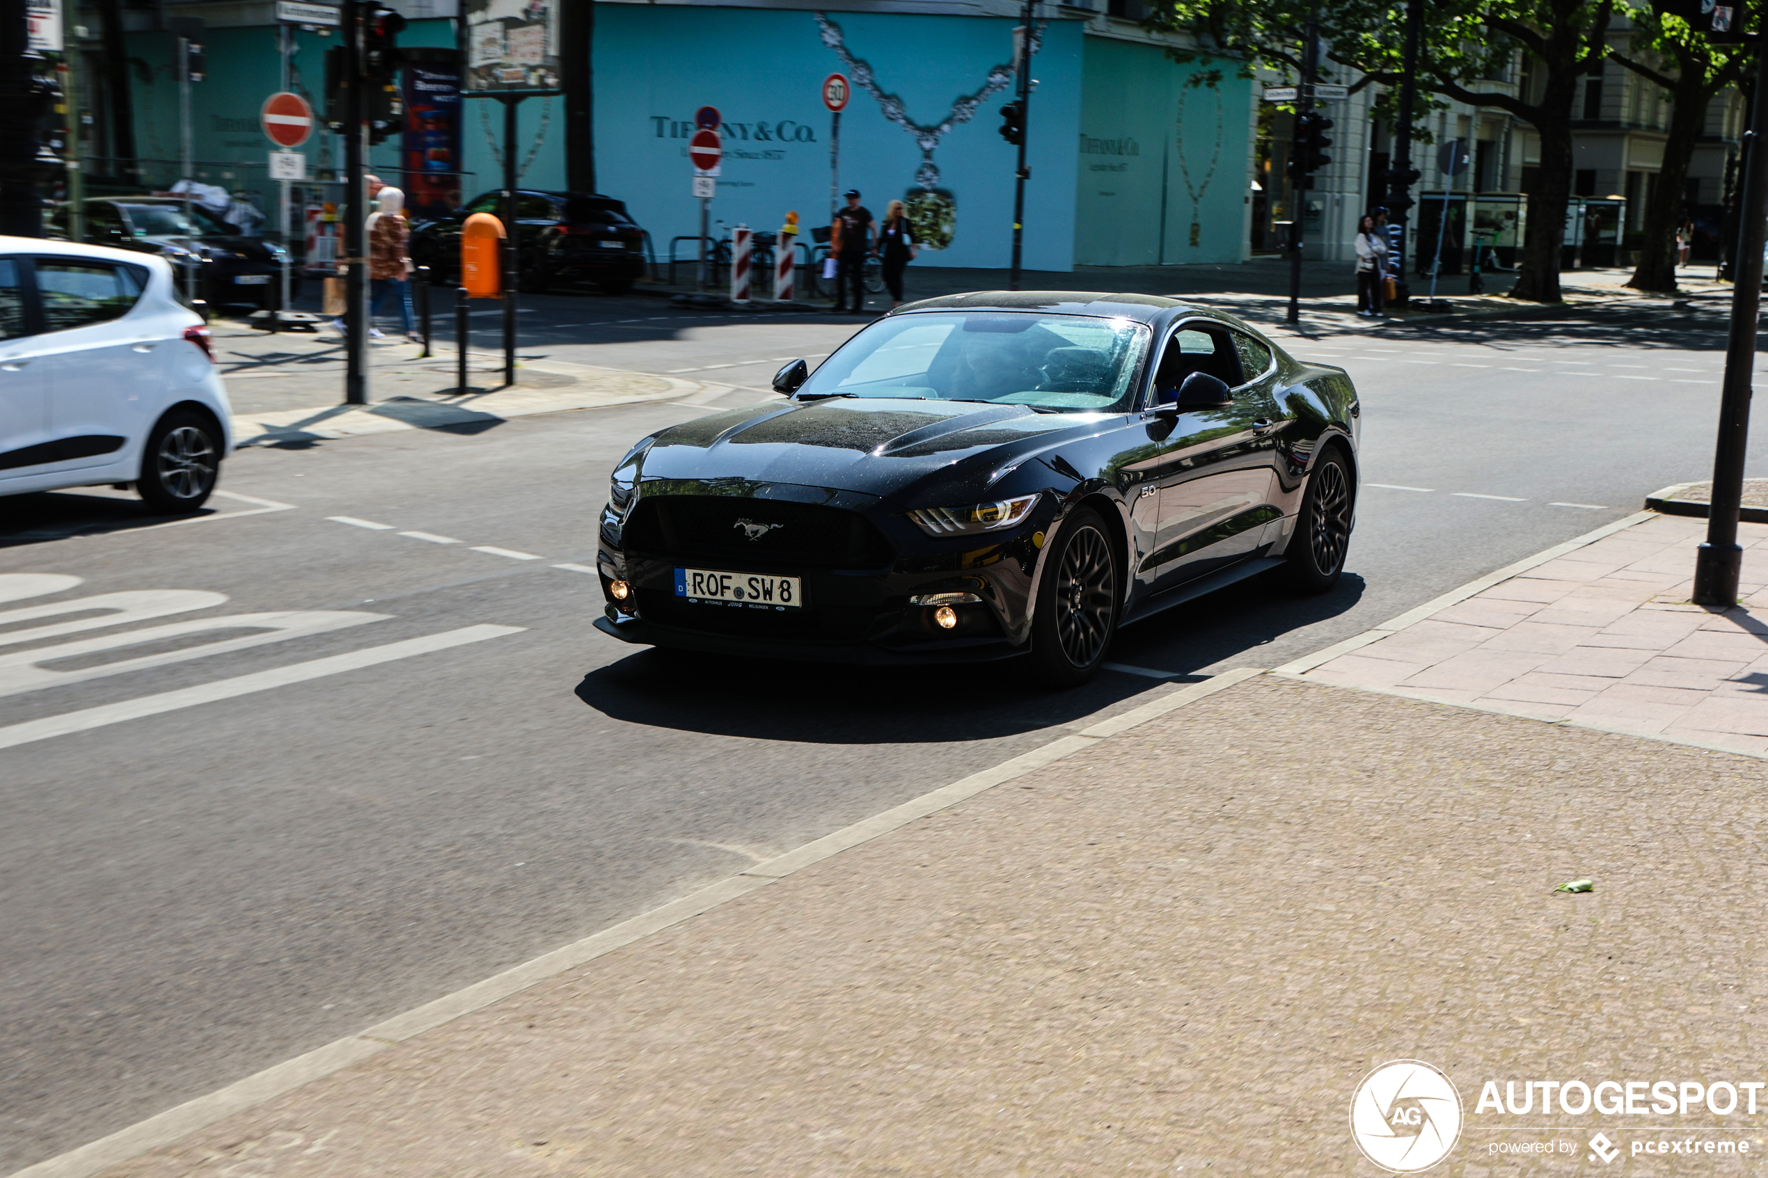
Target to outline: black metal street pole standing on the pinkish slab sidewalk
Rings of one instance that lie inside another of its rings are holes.
[[[1757,34],[1761,37],[1761,34]],[[1726,380],[1718,394],[1718,445],[1713,449],[1713,495],[1706,542],[1694,558],[1694,600],[1703,606],[1738,604],[1743,549],[1738,514],[1743,507],[1743,459],[1750,438],[1750,373],[1756,364],[1757,316],[1763,297],[1763,245],[1768,244],[1768,42],[1756,48],[1756,95],[1743,136],[1743,228],[1738,231],[1736,284],[1731,288],[1731,337],[1726,343]]]

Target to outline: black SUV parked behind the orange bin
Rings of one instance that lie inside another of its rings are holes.
[[[412,261],[430,267],[430,281],[460,281],[460,226],[476,212],[504,215],[504,194],[484,193],[460,212],[412,228]],[[583,279],[624,295],[645,270],[645,235],[626,215],[626,201],[594,193],[516,189],[516,268],[522,290]]]

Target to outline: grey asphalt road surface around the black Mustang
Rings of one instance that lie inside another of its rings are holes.
[[[730,383],[716,404],[769,396],[781,359],[856,328],[529,306],[525,355]],[[1706,477],[1722,332],[1703,311],[1609,311],[1285,341],[1361,390],[1347,576],[1317,599],[1252,583],[1169,611],[1124,631],[1114,662],[1276,666]],[[1004,666],[861,676],[601,636],[596,578],[568,565],[592,565],[608,470],[704,412],[253,449],[223,477],[248,498],[171,526],[110,491],[5,500],[0,1173],[1183,682],[1114,671],[1052,694]],[[1761,443],[1749,473],[1768,473]],[[141,590],[226,600],[161,597],[186,609],[127,625],[78,604]],[[237,615],[272,616],[104,641]],[[92,712],[198,685],[217,687]],[[69,731],[5,747],[51,717]]]

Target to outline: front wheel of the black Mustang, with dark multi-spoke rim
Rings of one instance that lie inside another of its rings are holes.
[[[1117,632],[1117,556],[1105,523],[1082,509],[1055,533],[1045,560],[1031,659],[1045,683],[1075,687],[1100,669]]]

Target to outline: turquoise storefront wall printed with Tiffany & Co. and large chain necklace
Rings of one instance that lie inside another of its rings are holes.
[[[925,127],[1011,62],[1013,21],[972,16],[829,12],[831,37],[870,65],[877,88],[900,99]],[[1033,180],[1025,189],[1025,267],[1073,267],[1073,143],[1080,117],[1082,30],[1052,21],[1034,58]],[[787,210],[806,226],[829,214],[829,113],[822,79],[849,69],[824,42],[817,14],[780,9],[599,5],[596,11],[596,177],[628,201],[659,253],[698,230],[688,129],[693,111],[725,118],[725,164],[714,221],[774,230]],[[856,79],[857,81],[857,79]],[[1006,267],[1011,249],[1015,148],[999,134],[1010,90],[990,95],[969,122],[932,148],[937,189],[955,203],[951,244],[923,251],[923,265]],[[842,115],[840,187],[857,187],[882,215],[893,198],[921,189],[916,138],[886,118],[877,97],[854,87]],[[684,244],[684,249],[688,245]]]

